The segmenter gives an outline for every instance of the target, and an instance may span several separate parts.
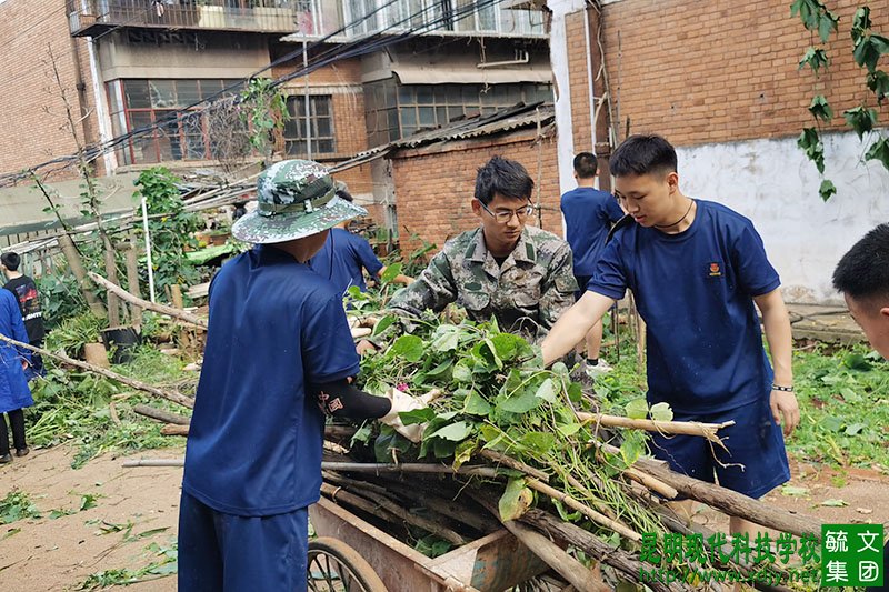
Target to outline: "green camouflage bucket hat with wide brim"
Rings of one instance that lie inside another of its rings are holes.
[[[231,227],[236,239],[252,243],[284,242],[317,234],[368,212],[337,197],[327,169],[311,160],[284,160],[262,171],[254,212]]]

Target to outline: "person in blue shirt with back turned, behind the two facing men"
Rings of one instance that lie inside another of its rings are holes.
[[[571,245],[577,279],[579,300],[587,290],[599,253],[611,225],[623,218],[615,197],[607,191],[596,189],[596,175],[599,163],[591,152],[581,152],[575,157],[575,179],[577,189],[566,192],[561,199],[565,217],[565,240]],[[591,374],[608,372],[611,367],[599,360],[602,344],[602,322],[597,321],[586,338],[587,371]]]

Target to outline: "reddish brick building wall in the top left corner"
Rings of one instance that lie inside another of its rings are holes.
[[[0,128],[4,147],[0,150],[0,174],[77,151],[70,131],[60,129],[67,124],[64,103],[51,78],[48,47],[56,57],[74,118],[80,118],[81,108],[83,112],[91,112],[86,121],[88,141],[98,138],[87,42],[71,39],[64,1],[8,0],[0,3],[0,51],[3,54],[0,60],[0,80],[3,80]],[[80,94],[76,88],[76,60],[86,83]],[[82,124],[77,126],[77,132],[82,139]],[[53,175],[54,179],[72,177],[76,177],[72,170]]]

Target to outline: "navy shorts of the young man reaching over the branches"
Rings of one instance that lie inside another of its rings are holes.
[[[652,434],[651,452],[673,471],[719,484],[750,498],[761,498],[790,480],[781,427],[771,417],[768,400],[706,414],[676,413],[673,421],[735,425],[717,432],[728,451],[696,435]]]

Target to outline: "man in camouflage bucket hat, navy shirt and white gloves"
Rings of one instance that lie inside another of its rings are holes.
[[[351,385],[359,359],[341,294],[306,264],[328,229],[367,212],[304,160],[263,171],[258,202],[232,233],[259,245],[210,285],[179,514],[183,592],[306,590],[326,412],[381,418],[414,441],[422,431],[398,413],[424,400]]]

